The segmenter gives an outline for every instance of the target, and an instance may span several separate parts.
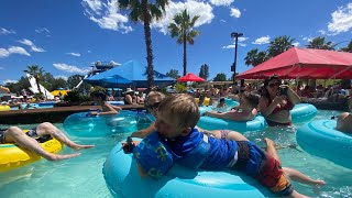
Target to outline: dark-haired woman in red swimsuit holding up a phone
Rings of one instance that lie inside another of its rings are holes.
[[[290,125],[289,111],[299,102],[299,96],[287,85],[282,85],[278,76],[274,75],[265,79],[264,91],[260,98],[260,110],[268,125]]]

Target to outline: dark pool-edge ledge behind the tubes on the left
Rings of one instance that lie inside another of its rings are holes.
[[[144,106],[119,106],[123,110],[143,110]],[[101,109],[100,106],[72,106],[46,109],[26,109],[0,111],[0,124],[33,124],[41,122],[64,122],[65,119],[77,112]]]

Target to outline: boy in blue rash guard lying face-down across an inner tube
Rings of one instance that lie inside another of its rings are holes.
[[[196,128],[199,110],[188,95],[169,96],[158,107],[155,127],[133,150],[140,174],[160,178],[175,164],[190,168],[220,170],[232,168],[257,179],[277,196],[302,197],[295,191],[287,177],[294,180],[323,185],[304,174],[282,168],[274,143],[266,139],[267,152],[242,134],[230,132],[232,140],[213,139]]]

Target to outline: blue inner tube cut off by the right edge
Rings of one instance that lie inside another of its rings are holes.
[[[334,130],[337,121],[316,120],[300,127],[297,143],[307,153],[352,168],[352,135]]]

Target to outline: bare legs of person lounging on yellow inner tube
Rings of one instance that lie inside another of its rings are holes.
[[[41,123],[36,128],[30,130],[28,133],[23,133],[22,130],[18,127],[11,127],[6,130],[0,130],[0,144],[14,143],[19,147],[29,150],[37,155],[41,155],[47,161],[62,161],[80,155],[80,153],[59,155],[45,151],[35,139],[47,135],[58,140],[63,144],[74,150],[94,147],[94,145],[80,145],[70,141],[62,131],[59,131],[55,125],[53,125],[50,122]]]

